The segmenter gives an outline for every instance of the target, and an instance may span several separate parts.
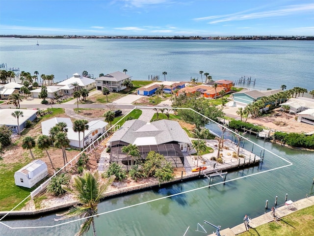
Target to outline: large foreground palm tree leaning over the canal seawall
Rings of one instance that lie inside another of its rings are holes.
[[[70,188],[64,187],[67,192],[74,194],[79,205],[75,205],[63,213],[61,219],[68,219],[75,216],[85,218],[84,222],[80,225],[79,231],[76,234],[77,236],[87,233],[91,225],[93,235],[96,236],[94,215],[97,215],[98,204],[105,197],[105,191],[113,180],[114,178],[109,178],[105,182],[102,182],[98,171],[94,173],[85,171],[82,177],[77,176],[74,178],[74,182]]]

